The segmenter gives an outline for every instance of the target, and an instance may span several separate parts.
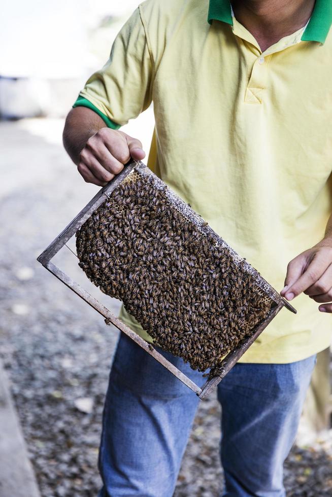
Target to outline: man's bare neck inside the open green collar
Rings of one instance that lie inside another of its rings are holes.
[[[306,25],[315,0],[234,0],[236,19],[251,32],[262,52]]]

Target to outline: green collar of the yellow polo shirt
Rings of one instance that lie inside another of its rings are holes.
[[[222,21],[233,25],[229,0],[210,0],[208,22]],[[332,24],[332,0],[316,0],[310,21],[301,40],[324,43]]]

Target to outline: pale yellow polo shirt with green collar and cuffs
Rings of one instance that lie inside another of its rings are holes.
[[[153,100],[149,166],[279,291],[332,212],[331,22],[331,1],[316,0],[305,28],[262,53],[225,0],[148,0],[74,105],[119,128]],[[304,294],[293,304],[243,362],[329,345],[330,316]],[[123,308],[121,318],[147,338]]]

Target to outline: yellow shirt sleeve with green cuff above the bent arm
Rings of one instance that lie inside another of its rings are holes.
[[[88,107],[108,127],[118,129],[149,107],[152,67],[138,8],[118,33],[109,60],[88,79],[73,107]]]

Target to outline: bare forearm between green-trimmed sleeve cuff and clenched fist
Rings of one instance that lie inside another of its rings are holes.
[[[88,139],[105,127],[103,119],[91,109],[76,107],[70,111],[65,120],[62,138],[65,150],[76,165],[80,162],[80,153]]]

